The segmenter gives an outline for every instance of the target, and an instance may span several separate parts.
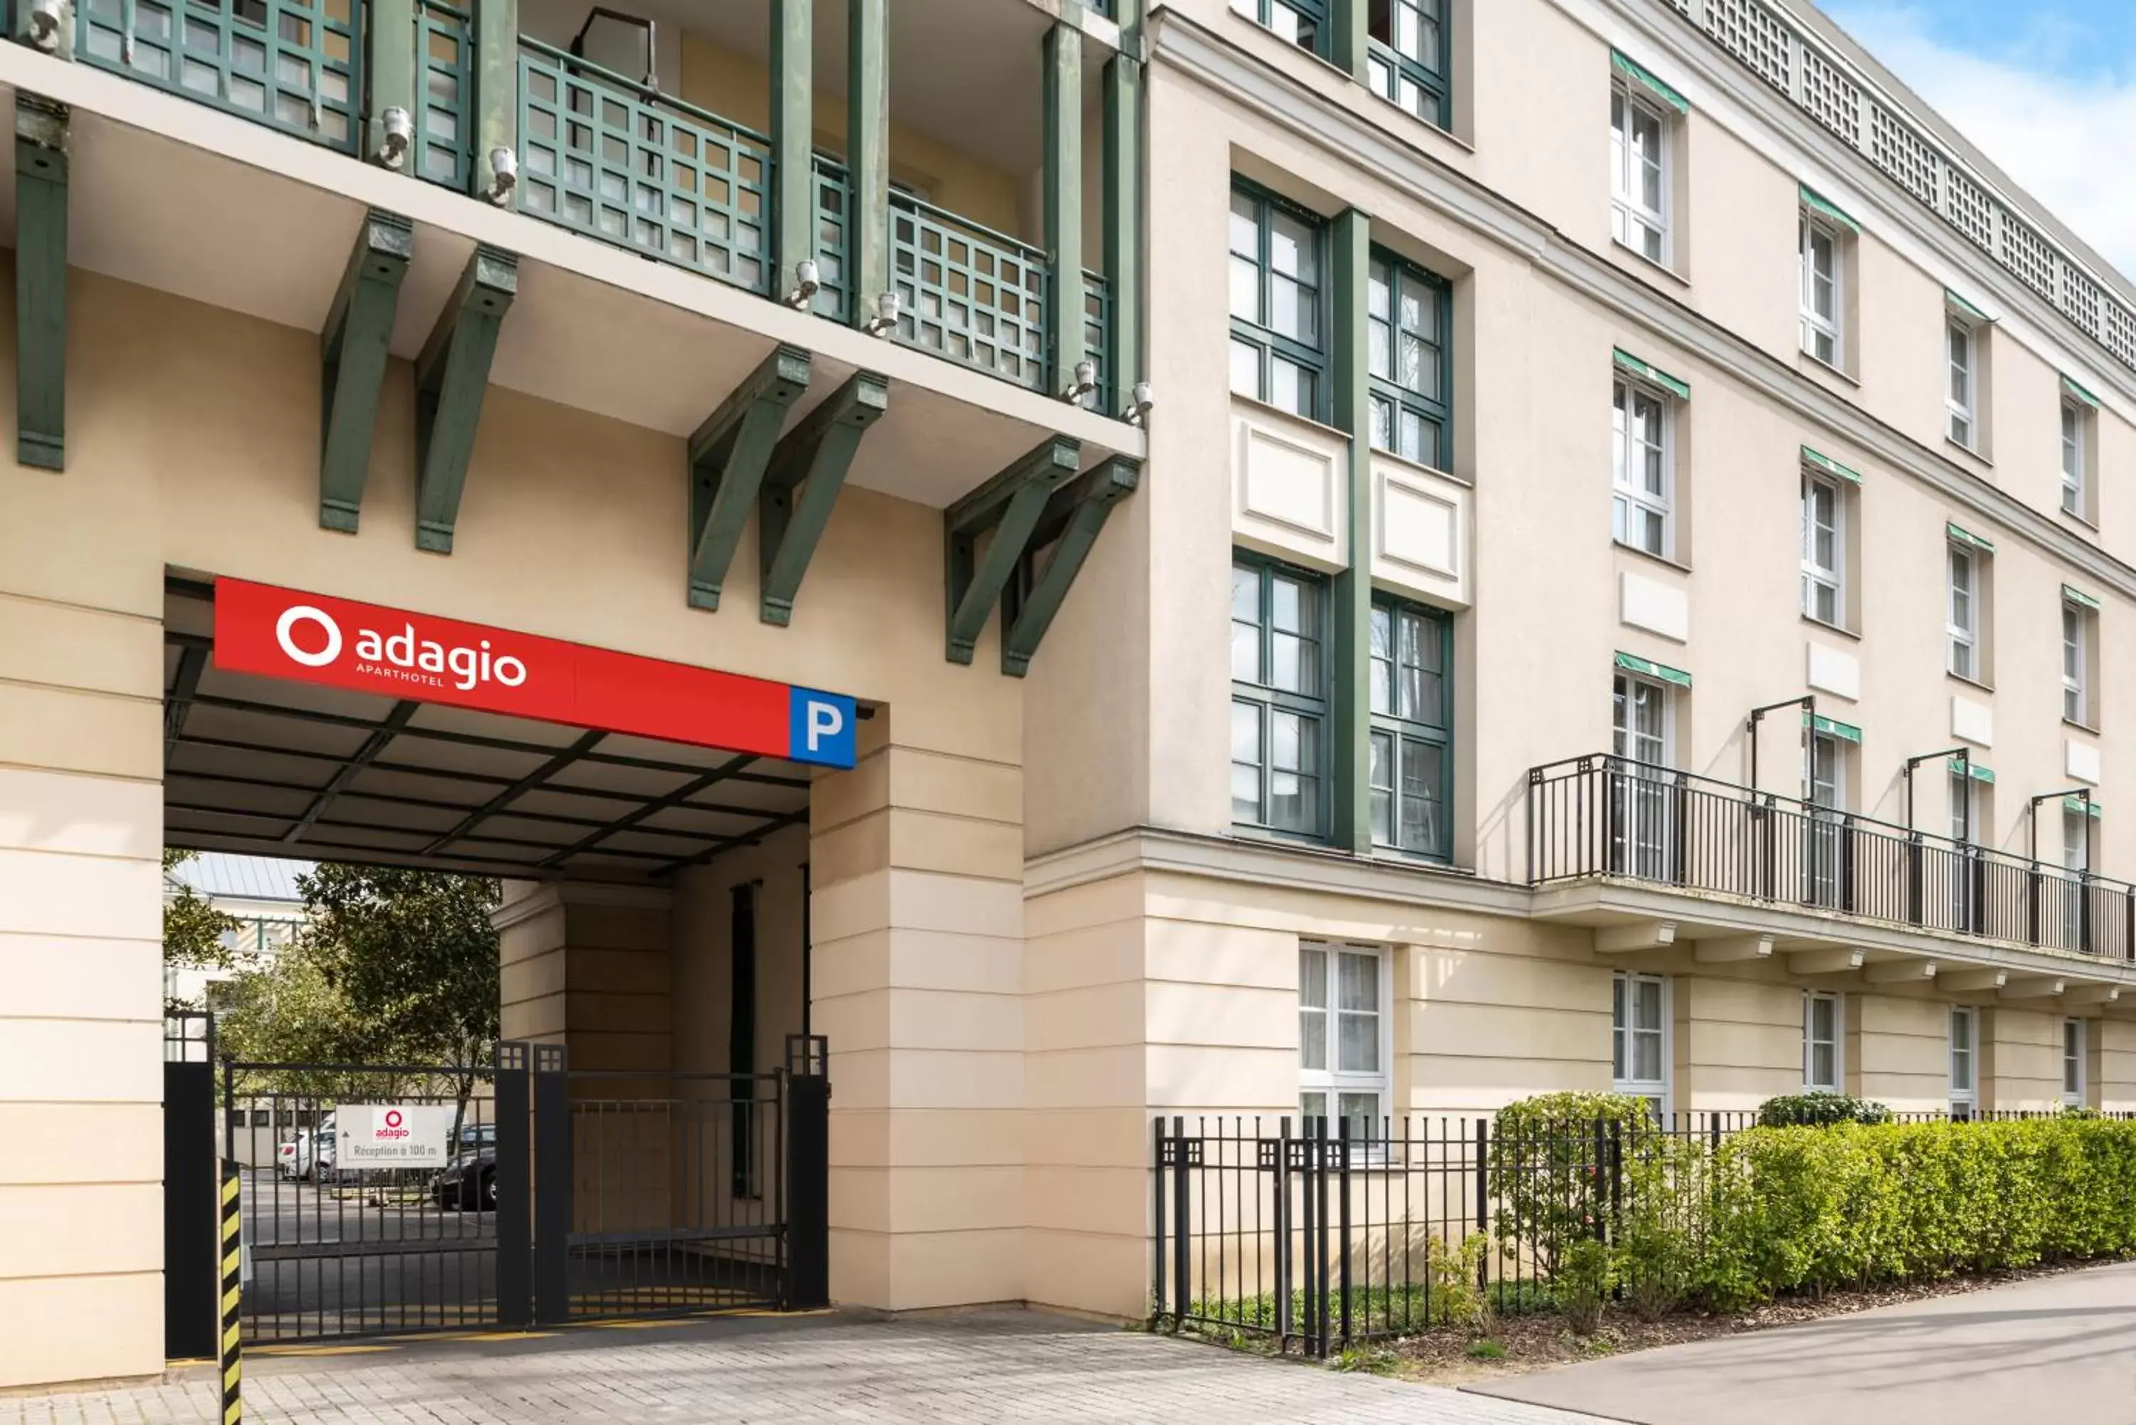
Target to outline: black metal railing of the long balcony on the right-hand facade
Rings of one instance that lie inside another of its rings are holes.
[[[2106,959],[2136,887],[1621,756],[1527,773],[1527,878],[1625,878]]]

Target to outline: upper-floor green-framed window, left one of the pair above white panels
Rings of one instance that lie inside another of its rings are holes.
[[[1309,421],[1326,408],[1326,220],[1230,190],[1230,389]]]

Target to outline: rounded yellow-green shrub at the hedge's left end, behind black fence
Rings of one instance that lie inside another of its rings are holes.
[[[1557,1275],[1559,1250],[1596,1233],[1613,1145],[1630,1160],[1636,1141],[1658,1137],[1651,1126],[1653,1109],[1632,1094],[1542,1094],[1499,1109],[1491,1124],[1499,1239]]]

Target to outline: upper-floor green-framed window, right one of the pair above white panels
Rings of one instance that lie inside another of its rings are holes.
[[[1446,282],[1386,252],[1371,254],[1371,444],[1433,470],[1452,470]]]

